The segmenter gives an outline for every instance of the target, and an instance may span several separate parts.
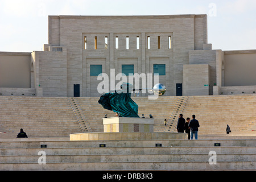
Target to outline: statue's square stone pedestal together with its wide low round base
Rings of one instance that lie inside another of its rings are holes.
[[[104,133],[70,134],[70,140],[171,140],[188,139],[185,133],[154,132],[154,118],[104,118]]]

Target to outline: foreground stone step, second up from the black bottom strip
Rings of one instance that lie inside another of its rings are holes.
[[[0,155],[5,163],[35,163],[41,155]],[[148,155],[47,155],[46,163],[87,162],[208,162],[209,154],[148,154]],[[217,162],[256,162],[256,154],[217,154]]]

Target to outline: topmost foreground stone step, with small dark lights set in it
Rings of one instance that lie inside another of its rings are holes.
[[[28,141],[26,141],[28,140]],[[106,144],[106,147],[155,147],[156,143],[161,143],[162,147],[213,147],[214,143],[220,143],[221,147],[256,147],[256,137],[254,139],[201,139],[201,140],[88,140],[88,141],[33,141],[33,138],[6,139],[0,140],[0,148],[40,148],[41,144],[47,144],[49,148],[75,148],[75,147],[98,147]]]

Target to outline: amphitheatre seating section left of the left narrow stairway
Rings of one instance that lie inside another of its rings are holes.
[[[20,129],[28,137],[68,137],[81,133],[67,98],[0,97],[0,138],[15,138]]]

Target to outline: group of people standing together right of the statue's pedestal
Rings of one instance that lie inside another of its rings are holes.
[[[187,122],[185,122],[183,114],[179,115],[176,128],[178,133],[184,133],[185,131],[185,133],[188,134],[188,139],[193,139],[193,135],[195,135],[195,139],[197,140],[197,132],[199,127],[199,121],[197,121],[195,114],[192,115],[192,120],[187,118]]]

